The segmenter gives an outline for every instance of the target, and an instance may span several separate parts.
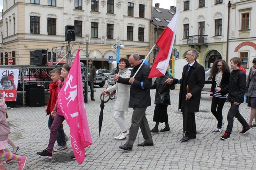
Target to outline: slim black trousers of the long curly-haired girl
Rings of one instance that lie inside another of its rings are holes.
[[[217,98],[215,96],[212,97],[211,112],[214,115],[214,117],[217,119],[218,121],[217,127],[220,129],[222,128],[222,120],[223,120],[222,109],[225,104],[225,101],[226,101],[226,98]]]

